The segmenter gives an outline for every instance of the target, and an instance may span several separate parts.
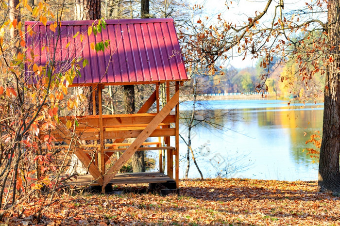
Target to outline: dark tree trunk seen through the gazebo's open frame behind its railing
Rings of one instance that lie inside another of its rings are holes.
[[[127,114],[134,114],[135,110],[135,87],[134,85],[123,85],[124,109]],[[129,142],[132,143],[131,140]],[[134,173],[145,172],[144,151],[136,151],[131,158]]]

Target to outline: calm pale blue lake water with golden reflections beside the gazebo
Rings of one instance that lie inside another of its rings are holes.
[[[322,130],[323,103],[300,104],[284,100],[211,100],[199,109],[228,112],[214,123],[225,129],[198,125],[192,132],[192,148],[204,177],[316,180],[318,165],[303,149],[310,133]],[[192,102],[180,105],[184,113]],[[186,135],[184,121],[180,133]],[[305,135],[305,132],[307,134]],[[172,142],[173,143],[173,142]],[[186,170],[187,146],[180,140],[180,178]],[[228,172],[226,174],[226,172]],[[191,161],[190,178],[199,178]]]

